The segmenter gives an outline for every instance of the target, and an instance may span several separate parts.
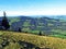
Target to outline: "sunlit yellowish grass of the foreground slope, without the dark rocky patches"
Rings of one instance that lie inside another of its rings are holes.
[[[37,35],[15,33],[15,32],[2,32],[2,30],[0,30],[0,35],[2,35],[3,38],[8,38],[11,40],[13,39],[16,42],[19,40],[31,42],[40,48],[66,49],[66,39],[62,39],[62,38],[37,36]],[[11,47],[13,48],[19,46],[11,46]],[[8,49],[10,49],[11,47],[9,47]]]

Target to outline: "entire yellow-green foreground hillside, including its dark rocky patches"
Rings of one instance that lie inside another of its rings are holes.
[[[0,49],[66,49],[66,39],[0,30]]]

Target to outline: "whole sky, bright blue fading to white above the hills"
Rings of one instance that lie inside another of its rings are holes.
[[[66,0],[0,0],[0,16],[66,15]]]

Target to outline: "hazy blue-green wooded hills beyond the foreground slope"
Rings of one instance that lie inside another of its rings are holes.
[[[2,17],[0,17],[1,20]],[[10,16],[8,17],[11,25],[11,30],[18,30],[20,27],[22,32],[53,34],[55,30],[66,30],[66,15],[57,16]]]

